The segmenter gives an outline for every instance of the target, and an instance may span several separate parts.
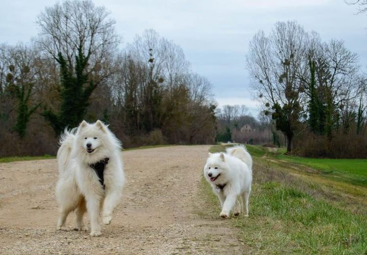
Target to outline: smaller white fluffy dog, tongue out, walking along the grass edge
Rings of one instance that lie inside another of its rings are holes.
[[[226,153],[209,153],[204,176],[219,198],[222,218],[228,218],[234,206],[235,216],[240,212],[249,216],[252,157],[244,146],[228,148]]]

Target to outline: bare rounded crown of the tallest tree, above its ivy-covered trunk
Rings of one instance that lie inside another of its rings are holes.
[[[92,70],[114,53],[121,41],[115,21],[108,16],[104,7],[95,6],[91,0],[65,0],[46,7],[38,16],[40,32],[34,40],[55,59],[61,53],[71,72],[78,49],[82,49]]]

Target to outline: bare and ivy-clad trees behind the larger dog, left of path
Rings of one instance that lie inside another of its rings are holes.
[[[64,128],[110,124],[124,148],[212,144],[211,84],[150,29],[119,50],[104,7],[66,0],[41,12],[30,44],[0,45],[0,156],[54,154]]]

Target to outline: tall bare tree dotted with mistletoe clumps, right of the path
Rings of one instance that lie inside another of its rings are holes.
[[[304,97],[298,78],[303,68],[309,35],[296,22],[278,22],[266,36],[255,34],[247,54],[247,68],[259,99],[274,111],[276,126],[287,136],[287,151],[299,123]]]

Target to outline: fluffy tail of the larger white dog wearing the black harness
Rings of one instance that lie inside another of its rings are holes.
[[[64,132],[60,135],[60,148],[57,151],[57,165],[59,167],[59,173],[64,173],[69,161],[70,161],[70,154],[73,147],[73,143],[75,140],[75,132],[77,128],[73,128],[68,130],[65,128]]]

